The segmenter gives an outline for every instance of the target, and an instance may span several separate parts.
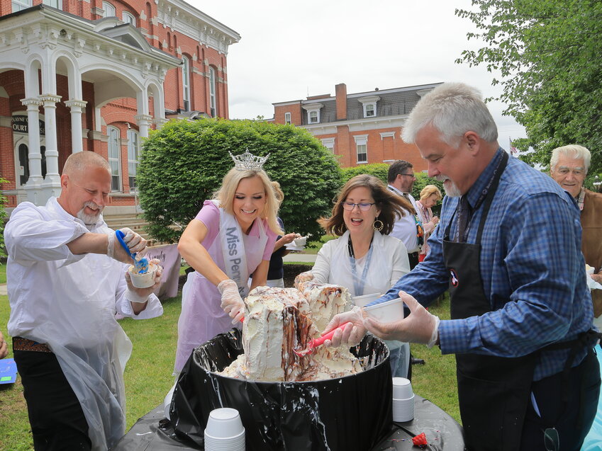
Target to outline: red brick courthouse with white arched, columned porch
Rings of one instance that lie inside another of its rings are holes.
[[[72,152],[111,165],[107,212],[135,210],[140,139],[169,118],[228,118],[240,35],[182,0],[0,1],[0,177],[9,211],[60,193]]]

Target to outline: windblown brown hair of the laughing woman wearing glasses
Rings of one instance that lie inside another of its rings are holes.
[[[343,219],[342,202],[347,199],[347,195],[349,195],[351,190],[360,187],[368,188],[370,190],[370,195],[372,195],[374,203],[376,204],[375,207],[377,207],[377,210],[381,210],[378,219],[383,223],[383,229],[381,230],[381,234],[383,235],[388,235],[393,231],[393,226],[397,218],[406,215],[405,210],[411,209],[412,212],[414,210],[411,203],[406,200],[406,198],[391,193],[391,191],[386,189],[386,185],[380,178],[370,176],[369,174],[360,174],[359,176],[351,178],[341,188],[335,206],[333,207],[332,215],[328,218],[322,217],[318,219],[318,224],[323,227],[326,233],[335,236],[341,236],[345,233],[347,226]]]

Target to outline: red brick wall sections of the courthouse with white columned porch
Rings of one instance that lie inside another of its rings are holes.
[[[202,28],[201,21],[208,21],[213,24],[213,19],[204,16],[201,11],[185,4],[182,0],[167,0],[174,3],[174,8],[182,8],[186,11],[189,18],[198,18],[196,25]],[[41,4],[41,0],[33,0],[31,6]],[[163,93],[165,98],[165,116],[169,118],[186,117],[186,112],[204,113],[206,116],[219,118],[228,118],[228,76],[226,72],[227,62],[225,52],[223,52],[223,41],[221,38],[217,40],[209,36],[207,44],[201,43],[199,39],[192,38],[188,34],[179,31],[179,27],[175,23],[166,24],[160,17],[162,13],[158,11],[160,5],[157,5],[152,0],[108,0],[116,10],[115,16],[119,19],[123,18],[123,13],[129,13],[135,18],[135,28],[143,35],[145,40],[162,52],[165,52],[172,57],[182,60],[186,57],[189,60],[189,104],[185,105],[183,96],[183,79],[182,65],[174,69],[167,70],[165,73],[165,82],[163,84]],[[165,7],[165,5],[163,5]],[[0,1],[0,32],[3,27],[2,16],[9,16],[12,11],[11,1]],[[28,9],[21,11],[25,14]],[[97,21],[103,18],[104,9],[102,0],[62,0],[62,11],[75,16],[80,16],[88,21]],[[167,20],[167,19],[166,19]],[[216,22],[215,22],[216,23]],[[225,28],[224,25],[217,23],[216,26]],[[194,26],[191,25],[191,26]],[[204,25],[207,28],[207,25]],[[63,30],[65,31],[65,30]],[[196,30],[198,31],[198,30]],[[238,35],[230,30],[233,38],[231,42],[238,42]],[[211,30],[213,33],[213,30]],[[193,33],[194,34],[194,33]],[[209,33],[208,33],[209,35]],[[211,44],[213,42],[213,45]],[[216,43],[217,42],[217,43]],[[220,45],[222,47],[220,47]],[[227,45],[225,48],[227,49]],[[216,50],[220,48],[221,50]],[[26,59],[27,54],[23,52],[23,59]],[[19,62],[23,64],[23,62]],[[213,69],[215,73],[215,107],[211,108],[210,81],[209,73]],[[57,72],[60,70],[57,68]],[[40,72],[41,79],[41,72]],[[128,178],[128,130],[139,130],[140,123],[136,115],[138,115],[136,98],[117,98],[108,101],[101,105],[100,116],[96,118],[95,108],[95,90],[94,82],[86,80],[86,74],[82,74],[82,98],[79,100],[87,102],[82,108],[82,149],[84,151],[98,152],[105,158],[108,156],[108,135],[107,127],[116,127],[120,133],[120,149],[121,149],[121,192],[113,193],[111,204],[117,205],[133,205],[135,197],[130,193],[129,178]],[[13,133],[13,117],[18,115],[27,116],[27,108],[21,102],[21,99],[26,98],[26,89],[23,70],[13,69],[0,71],[0,177],[6,178],[9,183],[1,185],[0,189],[4,190],[9,198],[8,207],[14,207],[18,201],[16,190],[21,188],[20,177],[18,174],[18,142],[23,139],[26,141],[26,134]],[[41,88],[40,93],[44,94]],[[72,153],[72,136],[71,136],[71,109],[65,105],[65,101],[69,100],[68,78],[63,74],[56,76],[56,95],[61,96],[60,101],[56,103],[56,127],[57,127],[57,148],[58,169],[62,171],[62,166],[65,164],[67,156]],[[148,111],[153,116],[155,97],[149,98]],[[45,111],[43,106],[39,108],[40,120],[45,119]],[[156,118],[152,118],[150,127],[157,126]],[[100,124],[100,125],[99,125]],[[98,128],[100,127],[100,128]],[[40,136],[42,141],[44,136]],[[44,146],[43,142],[41,143]]]

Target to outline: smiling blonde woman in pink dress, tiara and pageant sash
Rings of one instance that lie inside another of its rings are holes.
[[[195,271],[182,289],[176,372],[196,346],[229,331],[233,324],[240,327],[249,275],[251,289],[265,285],[276,236],[282,234],[276,219],[279,202],[261,169],[267,157],[245,152],[233,159],[235,167],[178,243],[180,254]]]

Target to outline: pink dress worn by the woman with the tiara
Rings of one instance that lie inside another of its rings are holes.
[[[220,211],[210,200],[204,202],[197,220],[207,227],[207,235],[203,246],[221,270],[224,270],[223,253],[219,239]],[[260,236],[260,227],[257,219],[253,223],[248,235],[243,234],[245,254],[247,256],[247,275],[257,269],[262,260],[272,256],[276,234],[269,229],[266,219],[261,219],[265,236]],[[184,363],[196,346],[211,340],[218,333],[228,332],[234,326],[230,316],[225,314],[220,307],[221,295],[216,285],[209,282],[203,275],[193,271],[189,273],[186,284],[182,289],[182,313],[178,320],[178,347],[176,351],[175,370],[182,370]],[[239,325],[237,325],[239,326]]]

